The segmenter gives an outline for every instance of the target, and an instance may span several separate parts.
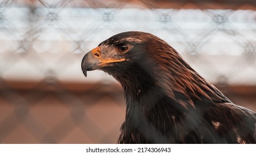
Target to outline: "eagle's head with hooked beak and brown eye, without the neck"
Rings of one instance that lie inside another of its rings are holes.
[[[136,70],[140,69],[151,74],[153,66],[159,63],[152,58],[161,52],[163,45],[166,43],[150,33],[116,34],[89,51],[84,56],[81,67],[85,76],[87,71],[96,69],[114,77],[127,75],[130,71],[135,75]]]

